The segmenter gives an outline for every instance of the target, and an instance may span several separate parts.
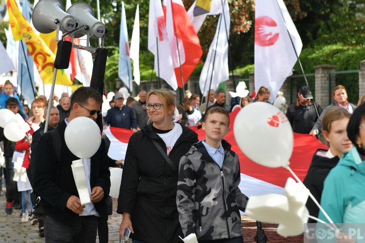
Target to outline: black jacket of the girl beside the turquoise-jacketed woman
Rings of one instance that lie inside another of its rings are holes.
[[[323,191],[323,182],[325,181],[329,171],[336,166],[340,158],[334,156],[333,158],[328,158],[325,156],[327,150],[318,149],[312,158],[308,173],[306,178],[304,178],[304,185],[309,189],[314,198],[321,203],[321,195]],[[314,217],[318,217],[319,208],[313,200],[308,197],[306,204],[309,214]],[[313,219],[309,219],[308,223],[317,223]]]

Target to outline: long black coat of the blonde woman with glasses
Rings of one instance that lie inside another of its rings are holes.
[[[198,141],[198,135],[186,126],[169,153],[169,158],[179,168],[180,158],[191,145]],[[164,160],[151,139],[166,148],[164,141],[148,124],[133,134],[128,142],[122,183],[118,198],[118,213],[129,212],[134,240],[154,243],[181,242],[183,231],[179,224],[176,207],[178,174]]]

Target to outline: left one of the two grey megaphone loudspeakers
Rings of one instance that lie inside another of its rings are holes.
[[[60,0],[39,0],[33,9],[32,21],[37,31],[48,34],[57,29],[67,33],[76,27],[75,18],[64,11]],[[58,21],[56,20],[58,19]]]

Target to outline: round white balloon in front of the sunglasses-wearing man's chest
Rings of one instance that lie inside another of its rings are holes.
[[[79,158],[90,158],[98,151],[101,132],[95,121],[77,117],[70,121],[65,130],[65,142],[69,150]]]

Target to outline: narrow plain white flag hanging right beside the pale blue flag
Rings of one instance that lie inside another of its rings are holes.
[[[137,4],[129,52],[129,56],[133,60],[133,76],[137,85],[141,82],[141,75],[139,72],[139,39],[139,4]]]

